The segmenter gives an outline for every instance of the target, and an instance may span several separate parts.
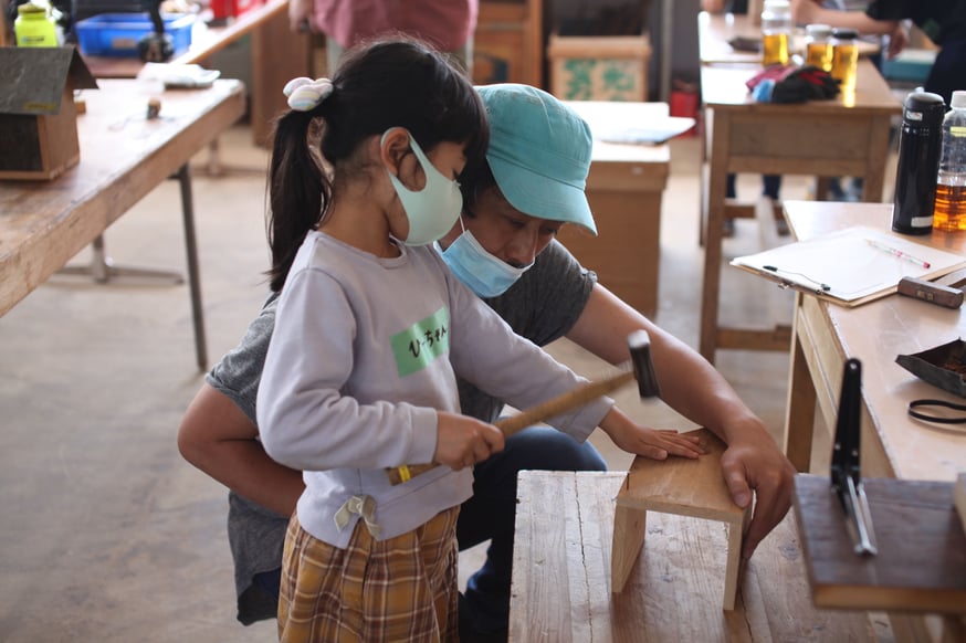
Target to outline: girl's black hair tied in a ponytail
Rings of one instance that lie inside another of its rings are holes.
[[[360,143],[392,127],[408,129],[427,151],[441,141],[465,143],[468,165],[481,162],[489,143],[473,85],[417,40],[392,36],[349,50],[332,83],[332,94],[313,109],[287,112],[275,124],[267,221],[273,291],[332,201],[323,159],[334,170],[346,168]]]

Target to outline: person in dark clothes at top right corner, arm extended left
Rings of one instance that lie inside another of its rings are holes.
[[[888,56],[906,41],[894,38],[902,21],[911,20],[939,48],[924,88],[949,104],[953,92],[966,88],[966,0],[872,0],[865,11],[829,11],[810,0],[791,0],[796,22],[823,22],[864,34],[893,34]]]

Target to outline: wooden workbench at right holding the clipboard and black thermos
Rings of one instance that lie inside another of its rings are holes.
[[[850,225],[888,230],[892,222],[891,203],[786,201],[784,205],[798,240]],[[966,252],[962,233],[934,230],[916,241]],[[811,468],[816,432],[836,426],[844,361],[858,358],[862,361],[862,476],[954,482],[966,472],[966,432],[910,418],[906,407],[922,398],[964,400],[918,379],[896,365],[895,357],[964,334],[966,308],[942,308],[896,294],[846,308],[797,294],[786,411],[788,458],[799,471]],[[816,409],[821,422],[816,422]],[[890,620],[897,641],[933,640],[925,619],[891,612]],[[964,632],[966,623],[947,621],[945,628]],[[960,634],[948,640],[963,639]]]

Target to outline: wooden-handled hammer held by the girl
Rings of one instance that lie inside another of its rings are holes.
[[[555,415],[584,407],[597,398],[619,389],[631,380],[638,381],[641,399],[659,396],[661,391],[658,387],[658,376],[654,373],[654,363],[651,360],[651,338],[648,331],[640,329],[631,333],[628,336],[628,349],[631,355],[630,363],[624,366],[619,373],[596,382],[588,382],[556,398],[552,398],[542,404],[522,411],[516,415],[498,420],[494,422],[494,425],[506,438],[510,438],[527,426],[533,426]],[[386,473],[389,476],[389,482],[398,485],[437,466],[440,465],[435,463],[405,464],[387,468]]]

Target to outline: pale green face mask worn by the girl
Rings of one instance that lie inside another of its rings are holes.
[[[387,129],[382,135],[382,143],[391,131]],[[463,196],[460,193],[460,183],[444,177],[422,152],[419,144],[409,134],[409,145],[412,152],[422,166],[426,175],[426,187],[413,192],[389,172],[392,187],[399,196],[406,217],[409,219],[409,235],[402,240],[406,245],[426,245],[442,238],[452,230],[453,224],[463,209]]]

